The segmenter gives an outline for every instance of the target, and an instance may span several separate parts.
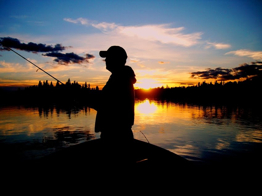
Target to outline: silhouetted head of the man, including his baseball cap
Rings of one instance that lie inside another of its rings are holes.
[[[111,72],[127,62],[127,53],[120,46],[111,46],[107,51],[100,51],[99,55],[106,58],[106,69]]]

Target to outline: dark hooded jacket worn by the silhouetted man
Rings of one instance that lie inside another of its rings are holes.
[[[130,66],[125,65],[111,74],[98,103],[96,133],[131,129],[135,117],[135,82]]]

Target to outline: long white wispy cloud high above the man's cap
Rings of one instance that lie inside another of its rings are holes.
[[[182,33],[185,27],[172,28],[169,24],[160,25],[143,25],[143,26],[121,26],[115,23],[95,22],[85,18],[64,18],[67,22],[81,23],[82,25],[91,25],[104,33],[114,32],[114,34],[122,34],[126,36],[137,37],[149,41],[158,41],[161,43],[171,43],[190,47],[198,43],[202,32],[190,34]]]

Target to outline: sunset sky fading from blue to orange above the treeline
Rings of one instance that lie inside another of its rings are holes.
[[[56,78],[102,89],[111,73],[99,51],[113,45],[126,50],[135,88],[242,81],[261,71],[261,1],[15,0],[0,5],[0,88],[56,84]]]

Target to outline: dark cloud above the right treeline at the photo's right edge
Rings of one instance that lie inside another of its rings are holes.
[[[215,69],[207,69],[207,71],[192,72],[190,74],[192,74],[191,78],[217,79],[221,81],[246,79],[262,74],[262,62],[243,63],[239,67],[232,69],[218,67]]]

